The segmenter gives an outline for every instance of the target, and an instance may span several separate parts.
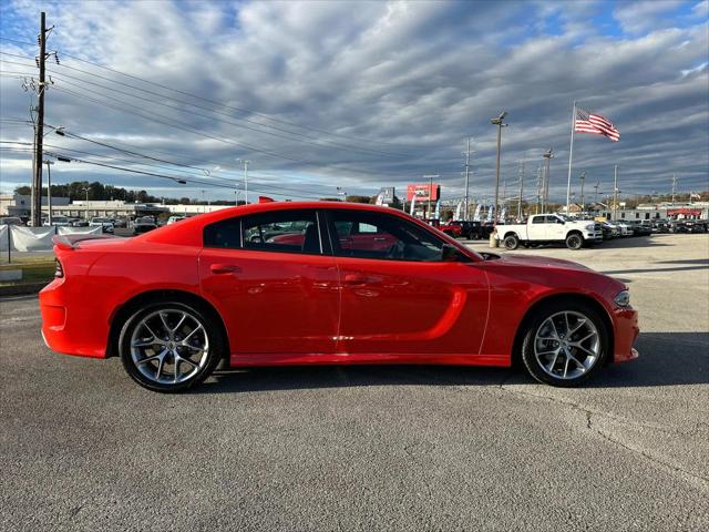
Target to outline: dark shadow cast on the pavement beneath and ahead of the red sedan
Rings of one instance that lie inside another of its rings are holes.
[[[709,332],[649,332],[636,342],[640,357],[612,364],[585,388],[635,388],[709,383]],[[535,385],[520,368],[460,366],[300,366],[224,369],[193,393],[238,393],[367,386]],[[544,385],[538,385],[544,386]]]

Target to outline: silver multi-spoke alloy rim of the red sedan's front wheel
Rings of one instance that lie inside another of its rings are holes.
[[[534,336],[536,361],[554,379],[577,379],[596,365],[600,351],[598,329],[590,318],[577,311],[549,316]]]

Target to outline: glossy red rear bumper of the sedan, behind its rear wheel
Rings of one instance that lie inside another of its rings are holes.
[[[72,291],[65,279],[54,279],[40,291],[44,344],[56,352],[105,358],[109,324],[100,318],[91,295]]]

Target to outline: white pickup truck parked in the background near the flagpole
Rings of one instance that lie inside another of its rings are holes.
[[[535,214],[526,224],[499,225],[497,239],[507,249],[524,246],[564,242],[569,249],[580,249],[585,244],[603,241],[600,224],[593,221],[569,221],[558,214]]]

